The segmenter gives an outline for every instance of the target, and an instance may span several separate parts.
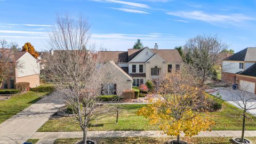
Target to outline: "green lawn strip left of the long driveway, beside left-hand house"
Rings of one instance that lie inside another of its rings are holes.
[[[0,123],[35,103],[43,95],[53,91],[51,85],[41,85],[23,94],[15,94],[9,100],[0,100]]]

